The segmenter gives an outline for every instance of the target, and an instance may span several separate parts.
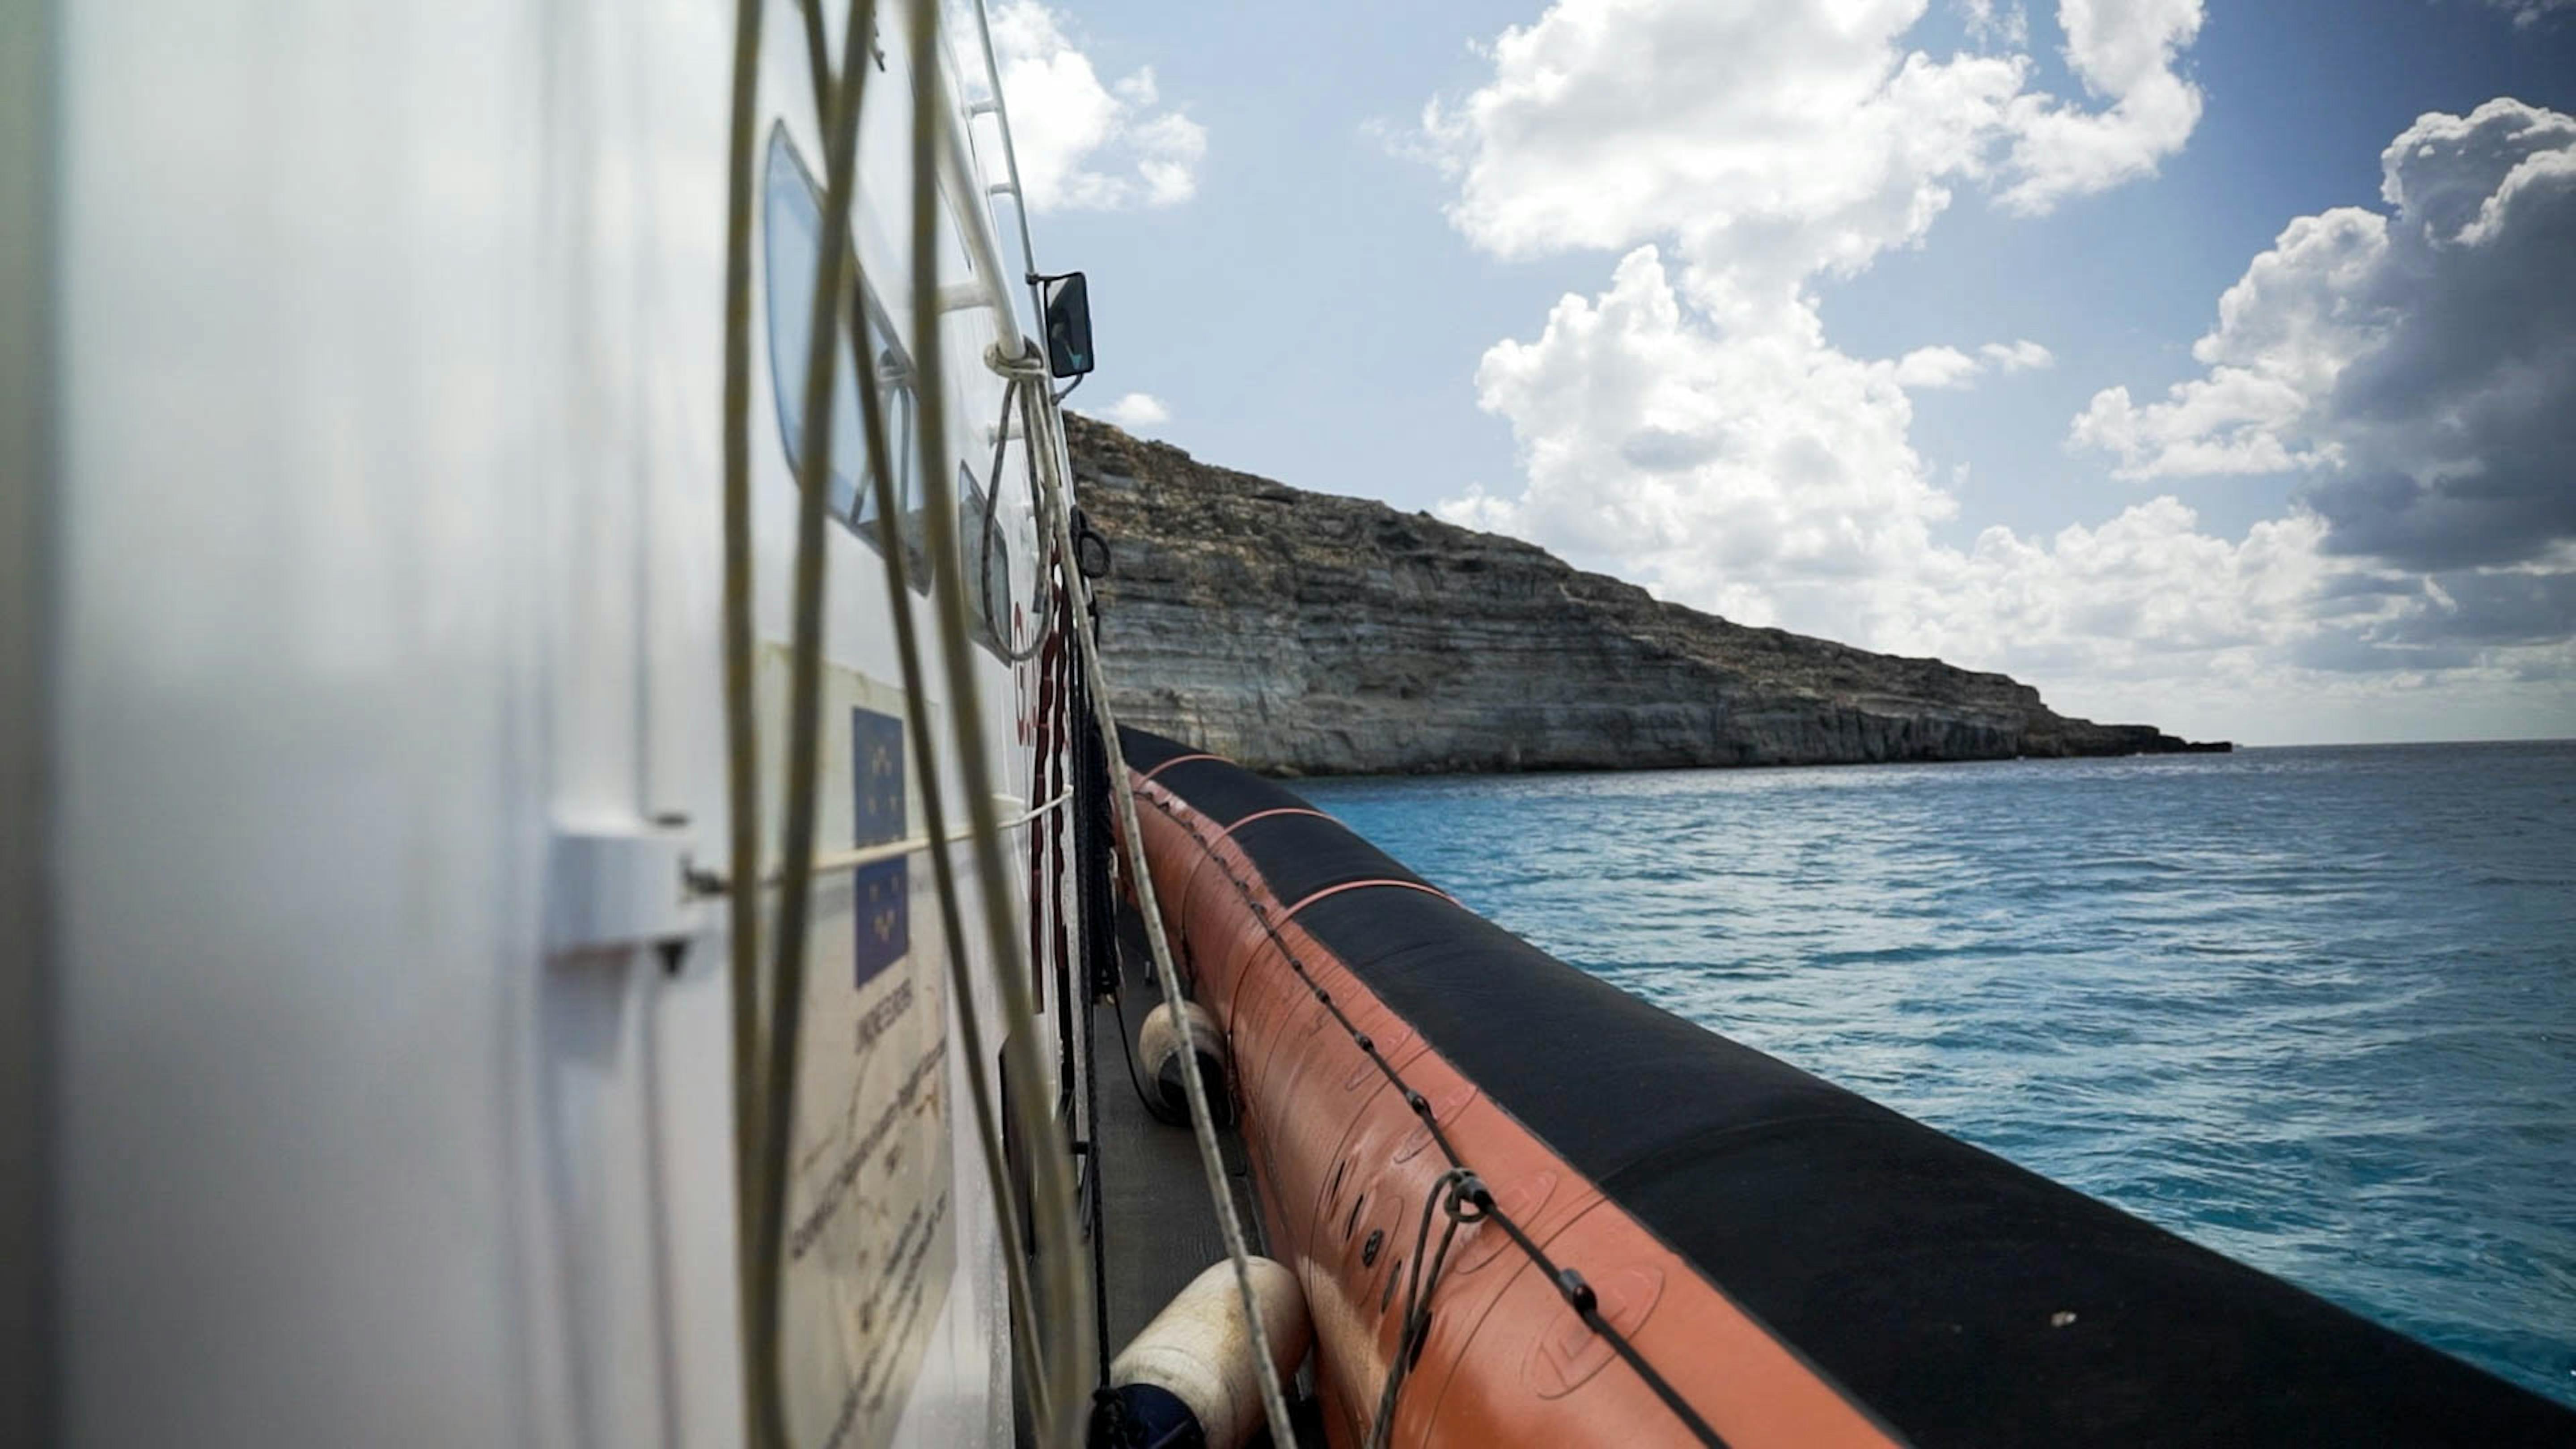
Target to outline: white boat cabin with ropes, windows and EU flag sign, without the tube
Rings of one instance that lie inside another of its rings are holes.
[[[0,1441],[1007,1444],[1097,822],[981,8],[8,36]]]

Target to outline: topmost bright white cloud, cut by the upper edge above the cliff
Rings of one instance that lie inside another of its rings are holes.
[[[2027,54],[1906,49],[1922,13],[1558,0],[1492,44],[1486,85],[1425,111],[1450,217],[1497,255],[1677,237],[1695,299],[1759,307],[1922,240],[1963,183],[2045,211],[2143,175],[2200,119],[2174,70],[2200,0],[2061,0],[2102,108],[2030,90]]]

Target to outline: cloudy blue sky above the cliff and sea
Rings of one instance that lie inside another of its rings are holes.
[[[2576,735],[2576,0],[1005,0],[1072,400],[2241,743]]]

